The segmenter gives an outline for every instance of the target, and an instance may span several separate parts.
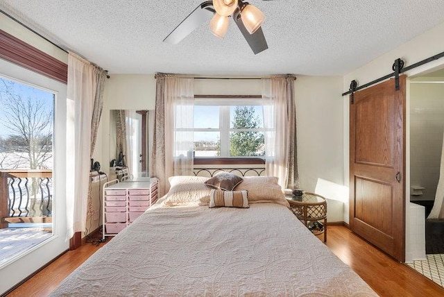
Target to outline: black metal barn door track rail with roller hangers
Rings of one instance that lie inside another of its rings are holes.
[[[364,89],[365,87],[370,87],[370,85],[375,85],[375,83],[379,83],[380,81],[391,78],[392,76],[395,76],[395,90],[398,91],[398,90],[400,90],[400,80],[399,80],[400,74],[402,74],[405,71],[409,71],[413,68],[419,67],[421,65],[427,64],[428,62],[438,60],[439,58],[443,58],[443,57],[444,57],[444,51],[442,53],[438,53],[435,56],[421,60],[421,61],[416,62],[415,64],[412,64],[407,67],[404,67],[404,61],[401,60],[401,58],[398,58],[395,60],[395,62],[393,63],[393,65],[391,67],[391,69],[393,70],[393,72],[391,74],[387,74],[386,76],[382,76],[380,78],[372,80],[372,81],[370,81],[370,83],[366,83],[365,85],[360,85],[359,87],[358,87],[357,80],[352,80],[352,82],[350,83],[350,90],[348,90],[345,93],[342,93],[342,96],[350,94],[351,103],[354,104],[355,103],[354,93],[356,91]]]

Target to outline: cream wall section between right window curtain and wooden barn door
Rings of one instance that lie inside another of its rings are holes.
[[[300,187],[327,198],[327,221],[343,221],[341,77],[298,76],[295,83]]]

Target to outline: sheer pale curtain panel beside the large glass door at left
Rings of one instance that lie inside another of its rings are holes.
[[[89,192],[89,156],[91,151],[92,114],[96,98],[96,67],[75,53],[68,55],[67,96],[74,106],[74,189],[67,189],[67,239],[85,230]],[[70,135],[67,135],[70,137]]]

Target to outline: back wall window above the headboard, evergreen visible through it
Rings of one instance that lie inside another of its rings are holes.
[[[264,107],[258,100],[196,99],[195,158],[251,158],[265,155]]]

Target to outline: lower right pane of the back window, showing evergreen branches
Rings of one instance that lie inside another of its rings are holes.
[[[230,156],[253,157],[265,155],[264,133],[258,131],[230,132]]]

